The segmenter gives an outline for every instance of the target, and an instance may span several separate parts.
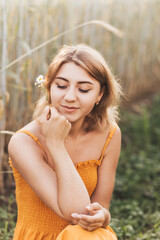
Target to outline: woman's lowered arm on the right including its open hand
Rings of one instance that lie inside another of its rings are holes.
[[[110,140],[102,164],[98,168],[98,181],[91,196],[91,204],[86,209],[88,215],[74,213],[74,224],[92,231],[99,227],[106,227],[110,222],[109,204],[112,197],[116,168],[121,149],[121,132],[118,128]]]

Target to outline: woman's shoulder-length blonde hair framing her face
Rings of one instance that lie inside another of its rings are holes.
[[[53,58],[45,78],[48,100],[44,95],[40,98],[36,104],[33,118],[37,118],[45,106],[51,104],[51,84],[61,66],[68,62],[73,62],[83,68],[91,77],[100,83],[101,91],[104,91],[99,104],[95,104],[91,113],[85,118],[88,130],[98,125],[102,125],[104,121],[107,124],[116,122],[118,119],[119,100],[122,95],[121,86],[115,79],[101,54],[84,44],[64,46],[55,58]]]

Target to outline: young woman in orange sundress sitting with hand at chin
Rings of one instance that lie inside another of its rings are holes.
[[[18,219],[14,240],[110,239],[120,154],[121,88],[103,57],[65,46],[43,83],[34,120],[9,143]]]

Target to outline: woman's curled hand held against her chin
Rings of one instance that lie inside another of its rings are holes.
[[[59,114],[56,108],[45,107],[37,120],[46,143],[53,143],[54,141],[56,144],[64,143],[64,139],[71,129],[71,123],[63,115]]]

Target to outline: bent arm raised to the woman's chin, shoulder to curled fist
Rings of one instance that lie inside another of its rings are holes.
[[[51,112],[49,121],[47,115],[48,109],[45,109],[39,124],[46,137],[55,171],[44,161],[38,145],[23,133],[12,137],[9,155],[13,166],[41,200],[60,217],[71,220],[73,212],[86,213],[85,206],[90,203],[90,198],[62,141],[65,134],[68,134],[66,120],[56,115],[56,112],[52,116]]]

